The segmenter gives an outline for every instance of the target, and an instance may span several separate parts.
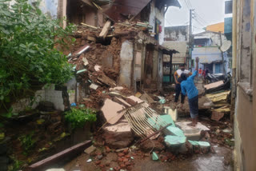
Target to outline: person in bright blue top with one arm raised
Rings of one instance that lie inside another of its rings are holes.
[[[192,123],[188,124],[190,126],[195,126],[198,124],[198,89],[194,85],[194,78],[198,74],[198,62],[199,58],[196,58],[196,68],[194,73],[188,77],[187,74],[182,74],[182,94],[186,95],[189,99],[190,105],[190,116],[192,118]]]

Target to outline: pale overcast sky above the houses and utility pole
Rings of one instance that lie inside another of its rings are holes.
[[[166,12],[166,26],[184,26],[190,21],[190,10],[194,9],[193,33],[218,22],[224,22],[225,0],[178,0],[182,8],[170,6]]]

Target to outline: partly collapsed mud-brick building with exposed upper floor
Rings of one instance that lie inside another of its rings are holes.
[[[117,85],[126,85],[134,92],[162,89],[163,55],[171,58],[178,53],[161,46],[168,6],[180,5],[178,1],[67,2],[68,21],[79,25],[73,52],[87,43],[90,50],[84,57],[90,61],[93,55],[97,61],[93,64],[107,68]],[[104,26],[103,30],[99,26]]]

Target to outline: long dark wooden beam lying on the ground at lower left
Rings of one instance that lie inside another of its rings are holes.
[[[26,171],[39,171],[39,170],[45,170],[49,169],[50,165],[55,165],[58,162],[63,161],[66,158],[75,157],[78,154],[82,153],[83,150],[88,148],[92,143],[92,141],[84,141],[82,143],[79,143],[78,145],[74,145],[70,147],[69,149],[65,149],[64,151],[60,153],[56,153],[53,156],[47,157],[46,159],[42,161],[38,161],[37,163],[34,163],[33,165],[29,165],[25,170]],[[70,159],[72,160],[72,159]]]

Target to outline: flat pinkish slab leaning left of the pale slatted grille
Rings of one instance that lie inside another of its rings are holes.
[[[118,113],[118,111],[122,109],[125,109],[125,106],[119,105],[110,99],[106,99],[102,107],[102,113],[106,121],[113,125],[123,116],[124,113]]]

